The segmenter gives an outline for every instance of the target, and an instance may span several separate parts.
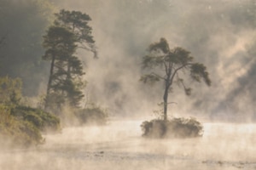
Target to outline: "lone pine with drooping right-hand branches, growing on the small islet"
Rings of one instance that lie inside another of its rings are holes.
[[[187,88],[179,72],[189,72],[189,76],[195,82],[201,82],[201,79],[211,85],[211,80],[207,72],[207,67],[201,63],[195,63],[190,52],[183,48],[169,48],[165,38],[160,38],[160,42],[149,45],[148,54],[143,57],[143,69],[148,71],[141,77],[144,83],[164,82],[164,120],[167,120],[168,95],[171,92],[173,82],[183,87],[185,94],[191,94],[191,88]]]

